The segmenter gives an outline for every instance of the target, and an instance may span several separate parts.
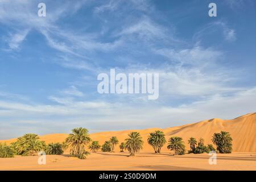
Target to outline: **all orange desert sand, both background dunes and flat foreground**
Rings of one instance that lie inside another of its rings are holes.
[[[86,126],[82,126],[86,127]],[[205,144],[212,144],[213,133],[228,131],[233,138],[232,154],[217,154],[217,165],[209,165],[208,154],[186,154],[174,156],[162,148],[162,154],[154,154],[152,147],[147,144],[148,133],[162,130],[166,138],[182,137],[186,149],[189,150],[187,140],[202,137]],[[145,129],[106,131],[90,134],[93,140],[103,144],[110,137],[117,137],[119,143],[127,138],[131,131],[138,131],[144,140],[143,150],[135,157],[127,157],[127,152],[119,152],[119,144],[115,152],[91,153],[86,160],[72,158],[65,151],[64,155],[47,155],[47,164],[38,165],[38,156],[15,156],[15,158],[0,159],[0,169],[11,170],[256,170],[256,113],[242,115],[241,117],[222,120],[209,119],[188,125],[170,127],[166,129]],[[40,139],[50,142],[63,142],[68,134],[48,134]],[[0,140],[7,144],[16,139]]]

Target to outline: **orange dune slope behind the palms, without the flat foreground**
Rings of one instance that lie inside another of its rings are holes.
[[[213,133],[220,131],[229,131],[233,138],[233,152],[256,152],[256,113],[242,115],[241,117],[222,120],[222,119],[209,119],[197,123],[183,125],[179,127],[170,127],[166,129],[145,129],[145,130],[125,130],[125,131],[108,131],[101,133],[90,134],[93,140],[98,140],[100,144],[103,144],[105,140],[109,140],[110,137],[115,136],[118,138],[119,143],[123,142],[127,138],[127,134],[131,131],[138,131],[141,133],[144,140],[143,151],[152,151],[152,147],[147,144],[148,133],[155,130],[162,130],[166,134],[166,139],[177,136],[182,137],[187,150],[189,146],[187,140],[190,137],[195,137],[197,140],[202,137],[205,139],[205,144],[212,144],[211,139]],[[43,135],[40,139],[49,142],[63,142],[67,138],[68,134],[48,134]],[[11,143],[16,139],[0,140],[0,142]],[[167,145],[166,145],[167,146]],[[167,151],[166,146],[163,147],[162,151]],[[115,147],[115,151],[119,147]]]

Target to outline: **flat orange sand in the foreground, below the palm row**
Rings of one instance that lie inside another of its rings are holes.
[[[46,165],[38,156],[0,159],[0,170],[256,170],[256,153],[217,154],[217,165],[209,165],[208,154],[174,156],[170,152],[142,152],[127,157],[127,152],[91,153],[86,160],[69,155],[47,155]]]

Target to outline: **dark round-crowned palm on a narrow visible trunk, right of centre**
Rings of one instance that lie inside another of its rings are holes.
[[[156,130],[154,133],[150,133],[147,142],[154,148],[155,153],[160,153],[161,148],[166,143],[166,138],[163,131]]]

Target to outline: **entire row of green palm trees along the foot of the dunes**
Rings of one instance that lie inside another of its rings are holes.
[[[160,153],[161,148],[167,143],[163,131],[156,130],[150,133],[147,138],[148,144],[152,146],[155,153]],[[232,138],[226,131],[221,133],[214,133],[212,142],[217,146],[217,151],[220,153],[232,152]],[[102,146],[98,141],[92,141],[89,137],[88,130],[82,127],[75,128],[72,133],[68,135],[63,143],[49,143],[39,140],[39,136],[36,134],[25,134],[23,137],[19,137],[16,142],[7,146],[0,143],[0,158],[11,158],[14,155],[37,155],[39,151],[46,151],[48,155],[61,155],[67,148],[70,148],[71,156],[75,156],[79,159],[86,159],[86,155],[89,154],[85,150],[86,146],[92,151],[97,152],[101,150],[103,152],[114,152],[114,147],[119,143],[117,137],[111,137]],[[201,154],[209,151],[216,151],[212,144],[204,145],[204,139],[200,138],[199,142],[193,137],[189,138],[188,144],[190,150],[188,153]],[[143,147],[143,139],[138,132],[131,132],[119,145],[120,152],[124,150],[129,151],[130,156],[134,156]],[[185,154],[185,144],[180,137],[171,137],[168,140],[169,150],[175,152],[175,155]]]

